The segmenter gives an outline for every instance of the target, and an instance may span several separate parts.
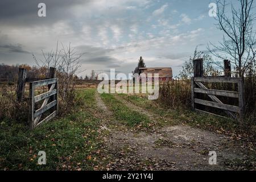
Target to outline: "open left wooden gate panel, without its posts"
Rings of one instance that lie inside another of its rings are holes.
[[[48,85],[48,92],[35,96],[35,89],[39,88],[40,86],[46,86],[46,85]],[[57,115],[57,111],[58,111],[58,86],[57,85],[58,85],[57,78],[30,82],[30,93],[29,93],[30,129],[34,129],[36,126],[39,126],[43,122],[49,121],[50,119],[52,119]],[[39,109],[35,110],[35,104],[42,100],[44,100],[43,104],[40,106]],[[54,108],[54,109],[51,109],[51,108]],[[41,119],[42,114],[46,113],[46,111],[50,109],[52,113],[47,115],[44,119]]]

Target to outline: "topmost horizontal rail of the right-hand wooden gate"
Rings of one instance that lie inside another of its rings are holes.
[[[230,77],[195,77],[196,82],[221,82],[221,83],[237,83],[241,78]]]

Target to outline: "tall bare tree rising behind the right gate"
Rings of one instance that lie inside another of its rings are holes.
[[[246,70],[254,64],[256,40],[254,27],[254,0],[238,0],[238,5],[231,3],[231,14],[226,11],[226,0],[217,1],[217,28],[224,32],[219,46],[212,43],[208,50],[220,59],[229,59],[235,65],[238,76],[244,77]],[[238,7],[237,7],[238,6]]]

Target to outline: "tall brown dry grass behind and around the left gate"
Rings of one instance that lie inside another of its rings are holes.
[[[64,116],[75,109],[75,106],[81,105],[81,98],[77,96],[76,90],[89,88],[87,85],[77,85],[72,92],[68,92],[65,99],[59,94],[59,115]],[[93,86],[95,88],[95,86]],[[28,122],[28,95],[29,86],[26,84],[24,100],[16,101],[16,85],[1,84],[0,87],[0,121],[6,123],[27,123]],[[35,90],[35,94],[47,92],[48,87],[42,86]],[[36,104],[39,108],[41,102]]]

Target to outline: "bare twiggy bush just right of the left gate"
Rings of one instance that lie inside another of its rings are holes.
[[[33,55],[36,65],[39,68],[55,67],[57,69],[57,77],[59,78],[59,98],[60,107],[62,110],[68,110],[68,107],[75,104],[75,85],[77,74],[83,72],[81,69],[79,54],[75,49],[71,48],[71,44],[58,48],[58,43],[55,51],[43,53],[44,60],[38,60]]]

